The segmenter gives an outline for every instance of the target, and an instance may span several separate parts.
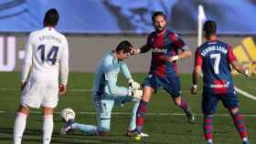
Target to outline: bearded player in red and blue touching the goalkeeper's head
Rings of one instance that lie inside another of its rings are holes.
[[[146,53],[152,50],[151,67],[144,81],[144,95],[137,111],[137,126],[136,129],[133,129],[134,133],[139,133],[138,136],[140,136],[144,125],[147,103],[161,86],[172,97],[176,105],[185,111],[188,121],[190,123],[195,121],[185,98],[181,96],[180,80],[176,67],[176,61],[190,57],[191,52],[176,33],[166,29],[166,18],[163,12],[155,12],[152,15],[152,22],[155,26],[155,32],[147,37],[146,45],[139,49],[133,48],[133,54]]]

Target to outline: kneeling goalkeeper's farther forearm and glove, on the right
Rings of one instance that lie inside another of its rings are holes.
[[[123,73],[123,76],[126,77],[126,79],[128,80],[128,86],[132,87],[133,89],[139,89],[140,84],[133,80],[131,72],[124,62],[121,62],[120,69],[121,69],[121,72]]]

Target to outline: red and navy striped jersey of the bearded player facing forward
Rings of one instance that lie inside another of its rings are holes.
[[[150,73],[159,77],[176,77],[176,61],[169,62],[166,57],[176,56],[179,49],[188,49],[184,41],[176,33],[166,29],[160,34],[151,33],[146,45],[152,50]]]

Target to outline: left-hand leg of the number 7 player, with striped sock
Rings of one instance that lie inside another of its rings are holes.
[[[208,144],[213,144],[213,116],[216,112],[216,108],[219,102],[219,98],[215,95],[203,93],[202,99],[202,111],[204,113],[203,129],[205,139]]]

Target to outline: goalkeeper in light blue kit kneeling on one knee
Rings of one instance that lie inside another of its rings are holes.
[[[127,101],[133,102],[132,118],[126,134],[136,128],[136,111],[143,95],[140,84],[133,81],[132,75],[123,62],[123,59],[131,57],[132,45],[128,41],[122,41],[114,50],[107,52],[97,67],[92,91],[97,117],[97,127],[75,123],[71,118],[61,130],[66,133],[70,129],[80,129],[89,134],[99,136],[109,135],[111,114],[113,105],[121,105]],[[119,72],[128,80],[128,87],[116,86]]]

